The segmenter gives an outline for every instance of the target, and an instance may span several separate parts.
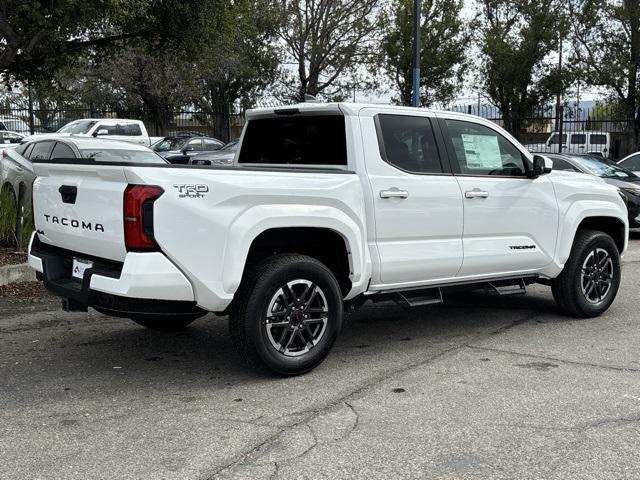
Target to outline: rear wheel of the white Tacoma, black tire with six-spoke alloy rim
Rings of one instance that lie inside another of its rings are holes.
[[[325,359],[342,327],[340,286],[314,258],[275,255],[246,273],[229,327],[250,366],[280,375],[308,372]]]

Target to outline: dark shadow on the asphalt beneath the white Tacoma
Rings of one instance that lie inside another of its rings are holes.
[[[445,302],[411,310],[394,303],[366,304],[347,316],[325,364],[304,377],[326,379],[342,375],[336,369],[371,369],[374,363],[385,370],[532,314],[540,313],[545,321],[562,321],[550,295],[494,297],[467,293],[447,296]],[[85,377],[122,375],[130,388],[143,390],[196,385],[226,388],[277,379],[242,364],[228,334],[226,318],[208,315],[177,333],[154,332],[125,319],[98,314],[91,314],[88,322],[77,328],[71,326],[72,335],[56,340],[60,348],[54,364],[43,365],[45,370],[54,368],[61,374],[81,362]]]

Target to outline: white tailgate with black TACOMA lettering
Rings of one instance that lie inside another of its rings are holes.
[[[35,163],[33,213],[41,242],[124,261],[122,166]]]

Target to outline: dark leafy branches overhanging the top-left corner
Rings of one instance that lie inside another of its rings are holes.
[[[48,78],[91,50],[125,42],[192,41],[193,19],[215,16],[224,0],[0,0],[0,72]]]

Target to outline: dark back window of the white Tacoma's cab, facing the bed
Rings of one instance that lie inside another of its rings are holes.
[[[249,121],[239,163],[346,165],[344,116],[313,115]]]

